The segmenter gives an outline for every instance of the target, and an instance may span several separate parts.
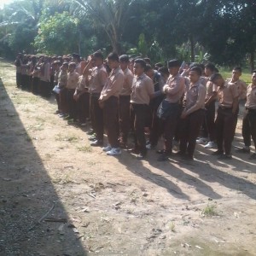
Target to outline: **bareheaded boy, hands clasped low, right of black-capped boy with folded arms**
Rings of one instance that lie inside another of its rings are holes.
[[[177,153],[185,160],[194,160],[196,137],[205,115],[206,86],[201,84],[201,67],[189,70],[189,89],[184,97],[181,114],[180,151]]]

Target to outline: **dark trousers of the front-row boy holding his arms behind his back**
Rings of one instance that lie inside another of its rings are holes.
[[[131,122],[134,125],[134,143],[135,148],[143,155],[147,154],[146,138],[144,127],[146,125],[148,105],[131,104]]]

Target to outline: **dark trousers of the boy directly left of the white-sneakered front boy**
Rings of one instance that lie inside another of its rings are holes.
[[[96,139],[103,141],[103,110],[99,105],[100,94],[91,94],[90,96],[90,111],[92,119],[92,127],[96,132]]]

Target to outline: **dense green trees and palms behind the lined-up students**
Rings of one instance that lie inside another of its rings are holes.
[[[0,10],[0,53],[97,49],[254,67],[251,0],[16,0]]]

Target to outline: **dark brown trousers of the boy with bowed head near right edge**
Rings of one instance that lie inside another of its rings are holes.
[[[232,113],[232,108],[218,108],[215,121],[216,141],[218,150],[224,151],[225,154],[231,153],[231,145],[236,131],[236,119],[237,113]]]

